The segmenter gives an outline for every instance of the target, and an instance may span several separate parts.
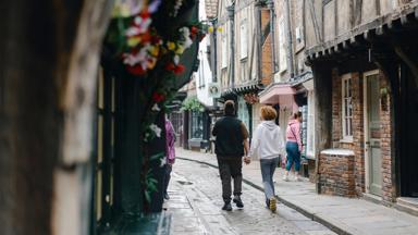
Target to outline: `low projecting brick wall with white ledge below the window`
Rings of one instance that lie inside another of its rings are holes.
[[[353,154],[328,154],[319,156],[319,185],[321,194],[355,197]]]

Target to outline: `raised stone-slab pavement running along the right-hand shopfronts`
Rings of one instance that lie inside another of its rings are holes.
[[[213,168],[218,166],[214,154],[179,148],[176,156]],[[339,234],[418,235],[417,217],[364,199],[318,195],[315,185],[307,180],[294,182],[291,176],[291,182],[283,182],[283,173],[282,169],[278,169],[274,175],[279,200]],[[262,189],[258,161],[244,165],[243,175],[251,186]],[[310,234],[316,233],[321,234],[323,231],[312,230]]]

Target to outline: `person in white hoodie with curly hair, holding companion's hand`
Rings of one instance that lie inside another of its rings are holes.
[[[284,138],[274,120],[276,111],[271,107],[261,107],[262,122],[257,126],[251,140],[249,157],[260,159],[262,184],[265,187],[266,205],[272,211],[276,210],[273,174],[279,164],[279,157],[284,152]]]

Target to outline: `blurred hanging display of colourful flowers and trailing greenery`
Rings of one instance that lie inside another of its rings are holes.
[[[152,157],[146,148],[162,136],[158,116],[174,97],[176,78],[186,71],[182,55],[208,32],[205,24],[190,22],[195,4],[196,0],[115,0],[106,44],[119,77],[134,79],[138,90],[139,158],[144,165],[156,160],[164,163],[163,154]],[[150,169],[142,184],[149,201],[156,190]]]

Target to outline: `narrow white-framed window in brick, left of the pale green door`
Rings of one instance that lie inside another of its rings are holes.
[[[343,97],[343,139],[353,140],[353,92],[352,76],[346,74],[342,78]]]

